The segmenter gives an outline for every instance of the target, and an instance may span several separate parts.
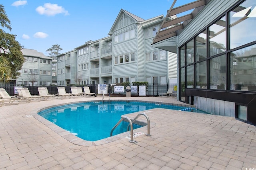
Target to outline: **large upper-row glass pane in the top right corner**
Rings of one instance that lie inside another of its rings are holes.
[[[255,41],[256,1],[246,0],[229,13],[230,49]]]

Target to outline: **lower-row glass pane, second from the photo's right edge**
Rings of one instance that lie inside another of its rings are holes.
[[[210,89],[226,90],[226,57],[210,59]]]

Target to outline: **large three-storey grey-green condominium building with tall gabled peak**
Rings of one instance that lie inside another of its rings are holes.
[[[175,53],[152,47],[164,16],[144,20],[121,9],[107,37],[57,56],[58,84],[110,84],[177,78]]]

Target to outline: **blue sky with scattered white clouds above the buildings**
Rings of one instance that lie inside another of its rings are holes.
[[[195,0],[177,0],[175,7]],[[121,9],[144,20],[167,14],[173,0],[0,0],[16,40],[26,49],[44,53],[60,45],[66,53],[108,37]]]

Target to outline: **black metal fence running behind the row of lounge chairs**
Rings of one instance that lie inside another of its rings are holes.
[[[21,85],[20,85],[21,86]],[[92,93],[96,93],[98,94],[98,84],[97,85],[73,85],[73,86],[89,86],[90,88],[90,92]],[[110,93],[111,96],[126,96],[126,91],[124,90],[124,92],[114,92],[114,84],[108,84],[108,94]],[[177,84],[148,84],[148,86],[146,86],[146,96],[159,96],[160,93],[166,93],[168,91],[169,88],[174,88],[177,87]],[[30,91],[30,94],[32,95],[37,95],[39,94],[38,92],[38,87],[47,87],[48,92],[52,93],[52,94],[57,94],[58,93],[58,89],[56,85],[49,85],[49,86],[32,86],[32,85],[28,85],[28,86],[22,86],[22,87],[26,87],[28,88],[28,90]],[[65,87],[65,90],[67,93],[71,93],[71,88],[72,86],[62,86]],[[0,88],[4,88],[6,90],[6,92],[8,92],[8,94],[10,96],[14,96],[15,95],[15,86],[1,86]],[[124,87],[124,89],[126,89],[126,87]],[[137,88],[138,92],[131,92],[131,96],[140,96],[140,92],[139,92],[139,87]],[[84,91],[84,89],[82,88],[82,90]],[[105,95],[108,95],[105,94]]]

